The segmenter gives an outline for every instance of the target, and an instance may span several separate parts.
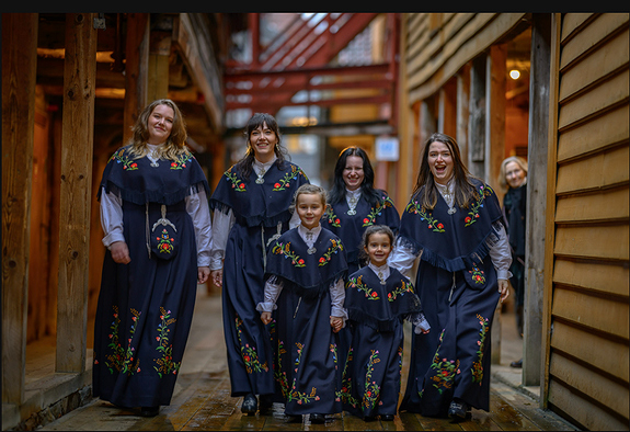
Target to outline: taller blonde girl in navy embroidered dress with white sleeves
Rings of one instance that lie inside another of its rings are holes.
[[[335,397],[342,367],[336,333],[347,318],[347,264],[340,238],[320,224],[325,195],[313,184],[298,189],[295,208],[301,223],[274,241],[264,302],[256,307],[276,334],[275,377],[289,421],[310,414],[311,423],[324,423],[325,414],[342,411]]]

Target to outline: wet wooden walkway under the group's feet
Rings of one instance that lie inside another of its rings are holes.
[[[409,339],[409,338],[408,338]],[[406,382],[409,348],[403,357]],[[403,384],[404,388],[404,384]],[[139,417],[137,410],[118,409],[93,399],[60,419],[39,428],[43,431],[575,431],[552,411],[541,410],[538,401],[493,377],[490,412],[472,410],[460,423],[448,419],[424,418],[402,412],[393,421],[365,422],[346,412],[330,416],[325,424],[288,422],[283,406],[271,413],[244,416],[242,398],[230,397],[230,382],[221,327],[220,296],[199,292],[193,328],[171,405],[154,418]]]

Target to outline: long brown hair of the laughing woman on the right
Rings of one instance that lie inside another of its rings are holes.
[[[437,204],[437,186],[435,185],[435,180],[433,178],[433,172],[428,166],[428,148],[435,141],[444,143],[453,157],[453,177],[455,181],[455,202],[461,208],[468,208],[468,204],[474,198],[479,197],[477,189],[470,181],[474,178],[466,168],[461,161],[461,156],[459,152],[459,146],[454,138],[448,135],[435,133],[432,134],[422,151],[422,160],[420,162],[420,172],[417,173],[417,180],[413,187],[412,196],[419,194],[420,203],[422,207],[428,211],[433,211]],[[481,179],[477,179],[480,180]]]

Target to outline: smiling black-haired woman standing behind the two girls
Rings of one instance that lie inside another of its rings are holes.
[[[387,192],[374,187],[374,170],[367,152],[354,146],[343,149],[334,168],[334,183],[329,192],[329,206],[322,218],[322,227],[343,241],[348,274],[366,265],[359,259],[365,229],[371,225],[386,225],[396,236],[399,224],[400,215]],[[352,327],[344,327],[339,337],[339,353],[342,362],[345,362]]]

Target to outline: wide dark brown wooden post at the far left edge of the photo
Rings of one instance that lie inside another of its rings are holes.
[[[37,13],[2,14],[2,402],[24,400]]]

